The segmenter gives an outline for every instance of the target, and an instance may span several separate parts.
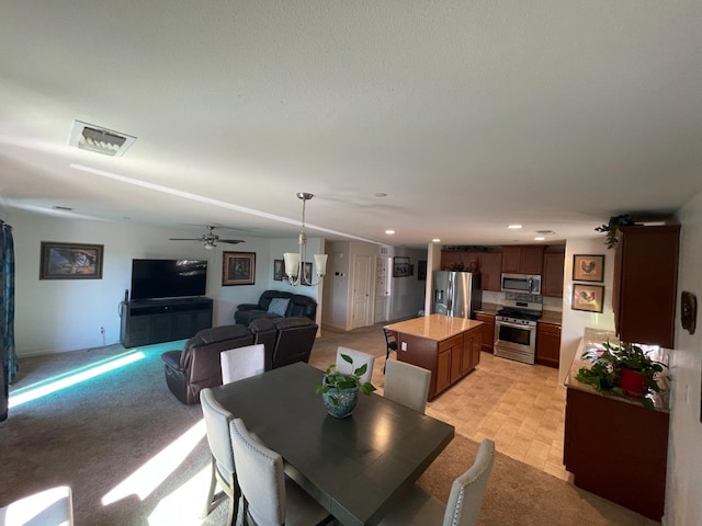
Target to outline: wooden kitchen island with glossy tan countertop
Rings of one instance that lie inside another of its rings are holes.
[[[428,400],[480,362],[482,321],[430,315],[385,325],[397,340],[397,359],[431,371]]]

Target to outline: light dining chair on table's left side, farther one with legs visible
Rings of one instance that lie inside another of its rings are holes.
[[[213,503],[220,496],[219,494],[215,495],[215,488],[219,482],[219,487],[229,498],[227,525],[234,525],[241,496],[237,483],[231,437],[229,436],[229,422],[234,415],[215,400],[210,388],[200,391],[200,404],[207,431],[207,444],[212,454],[212,477],[203,517],[210,515]]]

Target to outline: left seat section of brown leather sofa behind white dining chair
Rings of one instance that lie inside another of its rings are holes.
[[[254,340],[254,334],[245,325],[222,325],[200,331],[185,342],[182,351],[161,354],[168,388],[181,402],[199,403],[201,389],[222,385],[219,353],[252,345]]]

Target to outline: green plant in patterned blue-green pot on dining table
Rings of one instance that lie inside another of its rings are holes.
[[[353,358],[348,354],[341,354],[344,362],[353,367]],[[363,364],[353,373],[339,373],[336,364],[327,367],[321,384],[317,386],[317,392],[321,392],[321,399],[325,402],[327,412],[337,418],[346,419],[355,408],[359,391],[364,395],[371,395],[375,387],[370,381],[362,382],[361,377],[367,370],[367,364]]]

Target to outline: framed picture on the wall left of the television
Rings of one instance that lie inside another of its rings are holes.
[[[102,279],[104,244],[42,241],[39,279]]]

